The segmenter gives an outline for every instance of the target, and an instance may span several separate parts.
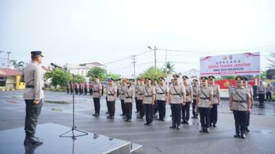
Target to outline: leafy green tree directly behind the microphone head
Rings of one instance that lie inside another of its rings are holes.
[[[72,80],[71,75],[59,69],[54,69],[50,72],[45,73],[44,77],[45,79],[52,79],[51,81],[52,86],[54,87],[61,86],[61,88],[65,87],[67,82]]]

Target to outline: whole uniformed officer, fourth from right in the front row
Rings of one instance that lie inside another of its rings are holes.
[[[146,82],[151,81],[149,77],[145,78]],[[155,103],[155,87],[145,86],[143,93],[143,104],[146,116],[146,123],[144,125],[152,125],[153,123],[153,104]]]

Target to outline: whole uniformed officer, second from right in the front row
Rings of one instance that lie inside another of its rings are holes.
[[[207,82],[208,78],[201,77],[201,80]],[[204,131],[209,133],[208,127],[210,124],[210,107],[212,107],[213,89],[210,86],[202,86],[199,88],[197,94],[197,106],[199,107],[199,117],[201,121],[200,132]]]

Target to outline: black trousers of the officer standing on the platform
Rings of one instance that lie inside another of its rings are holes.
[[[43,106],[43,99],[39,104],[34,104],[34,100],[25,99],[25,137],[33,138],[36,131],[37,120]]]

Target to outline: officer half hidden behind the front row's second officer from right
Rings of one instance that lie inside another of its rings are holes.
[[[213,79],[213,76],[209,76],[208,79]],[[213,103],[212,108],[210,109],[210,127],[213,125],[213,127],[216,127],[217,120],[218,120],[218,105],[220,97],[219,94],[221,92],[218,84],[209,85],[213,89]]]

